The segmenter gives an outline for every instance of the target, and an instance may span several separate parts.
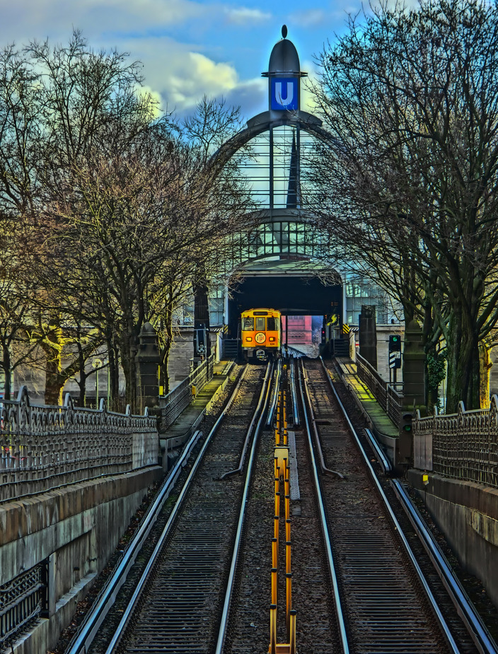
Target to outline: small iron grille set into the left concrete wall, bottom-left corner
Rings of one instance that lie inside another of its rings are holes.
[[[47,610],[48,559],[0,586],[0,651]]]

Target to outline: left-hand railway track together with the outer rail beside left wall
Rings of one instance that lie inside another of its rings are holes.
[[[243,448],[260,427],[270,373],[270,367],[246,366],[202,445],[131,600],[120,609],[120,623],[108,626],[98,615],[114,603],[117,591],[111,589],[107,606],[102,600],[95,607],[69,652],[214,652],[246,485],[240,474],[221,477],[237,469]]]

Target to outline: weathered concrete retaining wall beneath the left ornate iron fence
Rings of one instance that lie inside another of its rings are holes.
[[[0,585],[49,559],[49,615],[14,646],[40,654],[54,646],[163,469],[73,484],[0,506]]]

